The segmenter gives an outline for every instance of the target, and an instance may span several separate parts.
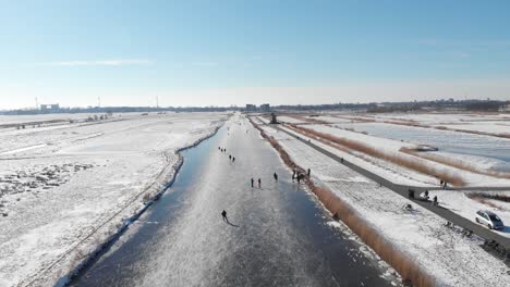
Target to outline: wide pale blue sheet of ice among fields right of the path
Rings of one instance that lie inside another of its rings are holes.
[[[509,139],[382,123],[352,123],[337,126],[354,128],[356,132],[366,132],[377,137],[429,145],[439,148],[439,151],[496,159],[502,162],[495,166],[495,170],[510,171]]]

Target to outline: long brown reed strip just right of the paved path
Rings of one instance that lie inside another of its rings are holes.
[[[445,182],[447,182],[449,184],[452,184],[454,186],[464,186],[465,185],[464,180],[460,176],[458,176],[456,174],[451,174],[451,173],[449,173],[447,171],[439,170],[439,169],[436,169],[434,166],[424,164],[421,161],[420,158],[411,159],[411,158],[401,157],[399,154],[388,154],[388,153],[386,153],[384,151],[380,151],[380,150],[378,150],[378,149],[376,149],[376,148],[374,148],[372,146],[365,145],[365,144],[360,142],[360,141],[355,141],[355,140],[351,140],[351,139],[347,139],[347,138],[336,137],[336,136],[332,136],[332,135],[329,135],[329,134],[326,134],[326,133],[320,133],[320,132],[317,132],[317,130],[314,130],[314,129],[311,129],[311,128],[306,128],[306,127],[302,127],[302,126],[296,126],[296,125],[288,125],[288,126],[291,126],[292,129],[294,129],[295,132],[304,134],[306,136],[313,135],[315,137],[326,139],[328,141],[331,141],[331,142],[338,144],[340,146],[347,147],[349,149],[352,149],[352,150],[368,154],[371,157],[378,158],[378,159],[381,159],[381,160],[385,160],[385,161],[388,161],[388,162],[392,162],[392,163],[394,163],[397,165],[404,166],[404,167],[408,167],[410,170],[413,170],[413,171],[416,171],[416,172],[420,172],[420,173],[423,173],[423,174],[427,174],[427,175],[440,178],[440,179],[442,179],[442,180],[445,180]]]

